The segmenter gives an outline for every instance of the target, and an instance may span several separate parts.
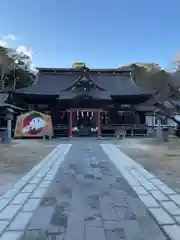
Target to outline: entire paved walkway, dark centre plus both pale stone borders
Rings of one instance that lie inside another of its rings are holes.
[[[0,240],[176,240],[179,205],[114,145],[74,141],[0,199]]]

